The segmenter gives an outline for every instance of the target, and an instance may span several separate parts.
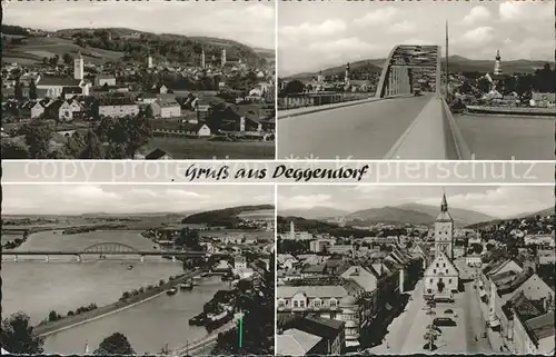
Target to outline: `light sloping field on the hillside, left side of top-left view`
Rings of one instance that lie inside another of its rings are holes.
[[[43,57],[58,54],[60,60],[64,53],[75,54],[81,51],[86,62],[100,63],[108,60],[116,60],[123,56],[122,52],[101,50],[97,48],[81,48],[71,40],[57,37],[30,37],[23,40],[24,43],[6,49],[2,53],[2,61],[18,63],[41,62]]]

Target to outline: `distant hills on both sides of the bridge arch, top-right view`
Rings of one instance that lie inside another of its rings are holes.
[[[349,63],[351,75],[359,76],[366,73],[380,73],[386,59],[366,59]],[[503,69],[506,73],[533,73],[536,69],[543,68],[547,61],[543,60],[513,60],[502,61]],[[446,61],[443,58],[443,68],[446,68]],[[554,68],[554,61],[549,62]],[[454,72],[492,72],[494,69],[494,59],[492,60],[471,60],[461,56],[448,57],[448,68]],[[341,66],[330,67],[322,69],[324,76],[344,76],[346,71],[346,63]],[[308,80],[318,76],[316,72],[302,72],[298,75],[288,76],[286,79]]]

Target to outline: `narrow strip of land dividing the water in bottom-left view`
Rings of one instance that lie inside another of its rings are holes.
[[[196,269],[189,272],[183,274],[180,277],[177,277],[173,280],[167,281],[160,286],[156,286],[152,289],[145,290],[143,292],[140,292],[135,296],[130,296],[127,299],[119,300],[106,306],[101,306],[97,309],[86,311],[79,315],[73,315],[73,316],[66,316],[57,321],[52,323],[47,323],[44,325],[39,325],[33,328],[34,333],[38,334],[39,336],[49,336],[59,331],[62,331],[64,329],[69,329],[82,324],[87,324],[89,321],[106,317],[108,315],[112,315],[116,313],[119,313],[121,310],[131,308],[133,306],[137,306],[139,304],[146,303],[148,300],[151,300],[162,294],[166,294],[166,291],[172,287],[178,286],[179,284],[186,282],[187,280],[191,279],[195,276],[200,275],[201,271]]]

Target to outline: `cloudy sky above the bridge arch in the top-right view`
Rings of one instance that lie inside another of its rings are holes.
[[[445,43],[449,54],[554,61],[554,0],[280,2],[280,76],[386,58],[395,44]]]

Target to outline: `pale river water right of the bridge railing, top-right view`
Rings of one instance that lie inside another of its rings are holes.
[[[554,118],[454,115],[477,160],[554,160]]]

